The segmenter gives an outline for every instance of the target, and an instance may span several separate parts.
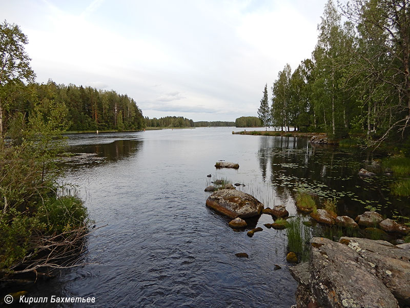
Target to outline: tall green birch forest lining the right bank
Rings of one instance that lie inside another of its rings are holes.
[[[342,23],[342,21],[344,21]],[[310,59],[289,64],[264,86],[264,126],[359,134],[368,144],[410,148],[410,2],[329,0]]]

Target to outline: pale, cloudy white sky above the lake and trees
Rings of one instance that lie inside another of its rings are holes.
[[[326,0],[0,0],[38,83],[128,94],[145,117],[257,116],[265,84],[311,57]]]

